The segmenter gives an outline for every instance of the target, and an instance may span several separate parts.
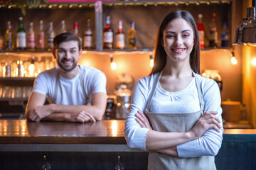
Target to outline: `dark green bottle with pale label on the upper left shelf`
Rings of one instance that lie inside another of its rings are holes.
[[[26,31],[23,28],[23,18],[18,18],[18,30],[16,39],[17,50],[26,50]]]

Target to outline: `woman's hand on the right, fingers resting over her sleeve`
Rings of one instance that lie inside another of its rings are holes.
[[[213,129],[220,132],[220,120],[217,118],[217,113],[214,111],[207,111],[201,118],[198,119],[196,125],[189,131],[194,139],[201,137],[206,130]]]

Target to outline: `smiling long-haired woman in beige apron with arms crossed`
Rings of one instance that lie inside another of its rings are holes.
[[[149,169],[216,169],[223,134],[220,91],[200,75],[198,32],[188,11],[164,18],[155,51],[151,74],[134,88],[127,144],[149,150]]]

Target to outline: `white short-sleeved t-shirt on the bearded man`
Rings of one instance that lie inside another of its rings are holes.
[[[94,67],[81,65],[79,72],[82,75],[82,84],[84,85],[85,93],[82,92],[79,74],[73,77],[73,79],[66,79],[60,75],[60,79],[58,80],[58,66],[41,72],[36,77],[33,92],[46,95],[48,101],[53,103],[55,83],[59,81],[56,101],[54,102],[62,105],[85,105],[90,103],[92,94],[106,93],[107,79],[103,72]]]

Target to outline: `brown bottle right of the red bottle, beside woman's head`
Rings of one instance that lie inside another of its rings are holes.
[[[210,21],[210,38],[209,38],[209,47],[217,47],[217,28],[215,23],[215,13],[212,14],[212,20]]]

